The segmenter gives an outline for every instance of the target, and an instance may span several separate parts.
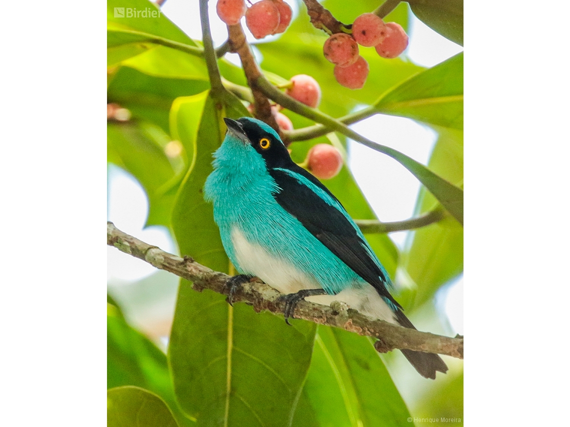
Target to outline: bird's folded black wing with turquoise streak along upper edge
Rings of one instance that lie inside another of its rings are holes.
[[[297,165],[288,167],[288,170],[310,180],[342,207],[327,187],[306,170]],[[311,188],[299,182],[287,171],[270,169],[269,173],[280,188],[274,194],[276,202],[295,216],[329,251],[374,286],[378,294],[388,298],[397,307],[401,307],[386,289],[388,280],[365,249],[364,245],[367,243],[361,239],[355,226],[344,216],[344,213],[325,202]]]

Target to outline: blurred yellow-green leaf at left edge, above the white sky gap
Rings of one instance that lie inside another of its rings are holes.
[[[174,195],[167,194],[163,188],[184,167],[181,156],[166,156],[164,147],[170,139],[158,126],[149,122],[107,124],[108,161],[135,176],[149,198],[146,225],[170,227]]]

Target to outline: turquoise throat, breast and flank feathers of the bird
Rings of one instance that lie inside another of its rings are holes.
[[[347,283],[364,284],[338,257],[329,256],[330,251],[279,206],[272,196],[278,186],[255,150],[226,139],[214,158],[214,172],[204,188],[205,199],[214,203],[214,220],[223,247],[238,272],[256,274],[243,268],[235,255],[230,237],[233,227],[239,228],[247,240],[263,242],[273,256],[288,257],[297,268],[312,271],[327,293],[339,293]],[[288,232],[283,233],[283,229]]]

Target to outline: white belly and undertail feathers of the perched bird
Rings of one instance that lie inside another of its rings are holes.
[[[247,274],[253,274],[282,294],[292,294],[302,289],[319,289],[322,286],[310,274],[305,274],[287,260],[278,259],[264,248],[247,241],[243,233],[234,228],[231,241],[239,266]],[[350,287],[336,295],[315,295],[307,301],[331,305],[342,301],[352,309],[375,319],[397,323],[390,307],[370,285]]]

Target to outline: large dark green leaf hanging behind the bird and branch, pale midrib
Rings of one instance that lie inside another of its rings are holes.
[[[222,102],[224,108],[217,109],[207,97],[201,114],[193,116],[182,113],[184,100],[173,106],[173,133],[188,145],[191,142],[184,139],[197,132],[193,166],[178,192],[173,229],[181,254],[227,272],[229,261],[202,187],[212,170],[211,155],[225,133],[222,117],[238,118],[247,112],[231,96]],[[275,315],[257,314],[241,303],[231,307],[223,295],[197,293],[181,281],[169,344],[181,408],[201,424],[289,425],[314,333],[312,323],[298,321],[289,327]]]

